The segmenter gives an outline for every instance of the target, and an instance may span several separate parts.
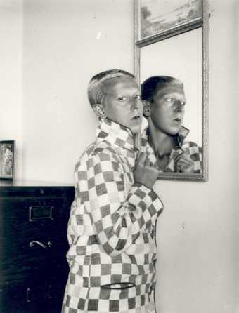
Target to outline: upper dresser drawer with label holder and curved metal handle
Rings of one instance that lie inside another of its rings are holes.
[[[1,276],[39,271],[53,259],[65,264],[66,203],[64,198],[0,199]]]

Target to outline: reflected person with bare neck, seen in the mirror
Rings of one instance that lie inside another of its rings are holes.
[[[185,141],[183,83],[171,76],[151,76],[141,85],[143,114],[148,119],[148,142],[160,172],[202,173],[202,148]]]

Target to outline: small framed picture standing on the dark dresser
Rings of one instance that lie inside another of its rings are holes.
[[[15,140],[0,141],[0,179],[13,180],[15,170]]]

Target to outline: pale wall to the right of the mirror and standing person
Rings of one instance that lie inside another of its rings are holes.
[[[210,1],[209,181],[157,182],[158,312],[239,312],[238,6]]]

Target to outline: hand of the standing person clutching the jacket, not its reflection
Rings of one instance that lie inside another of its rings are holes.
[[[134,181],[140,182],[148,188],[152,188],[157,180],[158,171],[148,159],[148,154],[141,153],[136,159],[134,168]]]

